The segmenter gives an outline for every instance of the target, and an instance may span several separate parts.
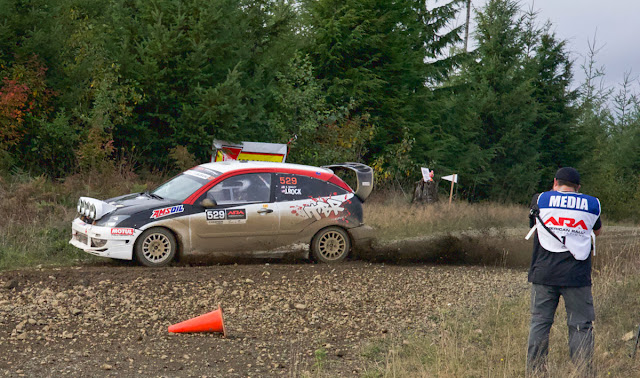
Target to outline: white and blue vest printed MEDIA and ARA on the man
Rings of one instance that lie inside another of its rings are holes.
[[[571,252],[576,260],[591,253],[591,232],[600,217],[600,200],[574,192],[544,192],[538,197],[540,218],[560,239],[536,221],[540,245],[549,252]]]

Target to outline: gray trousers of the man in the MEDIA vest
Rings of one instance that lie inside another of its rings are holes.
[[[545,371],[549,354],[549,331],[558,307],[564,298],[569,327],[569,351],[578,366],[591,370],[593,357],[593,309],[591,286],[569,287],[533,284],[531,287],[531,328],[527,370]]]

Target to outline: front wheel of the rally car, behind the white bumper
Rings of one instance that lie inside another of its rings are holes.
[[[161,227],[150,228],[136,240],[135,258],[144,266],[167,266],[175,258],[177,246],[171,231]]]

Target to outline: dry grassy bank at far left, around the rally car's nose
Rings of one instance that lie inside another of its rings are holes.
[[[0,270],[95,260],[68,244],[78,198],[142,191],[161,180],[141,179],[123,164],[57,181],[0,176]]]

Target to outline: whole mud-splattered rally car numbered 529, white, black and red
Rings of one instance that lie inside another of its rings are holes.
[[[341,168],[356,173],[356,190],[332,170]],[[340,261],[372,238],[362,214],[372,188],[371,168],[357,163],[207,163],[152,192],[80,198],[70,243],[149,266],[166,265],[176,254],[269,251],[298,243],[309,243],[318,260]]]

